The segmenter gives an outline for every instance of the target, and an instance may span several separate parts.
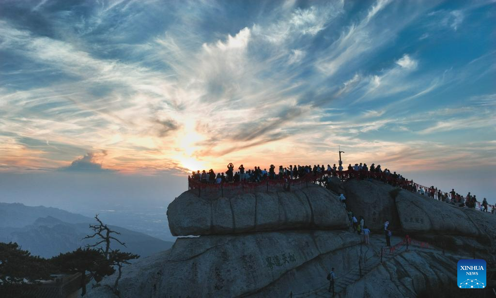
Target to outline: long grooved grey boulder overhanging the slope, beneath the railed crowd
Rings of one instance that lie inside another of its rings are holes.
[[[173,236],[307,228],[338,230],[348,226],[338,197],[317,185],[216,199],[200,198],[186,191],[169,205],[167,217]]]

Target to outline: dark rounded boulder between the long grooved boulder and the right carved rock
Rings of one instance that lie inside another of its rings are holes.
[[[394,187],[372,179],[350,179],[344,187],[348,209],[357,219],[363,216],[369,229],[381,232],[386,219],[391,230],[401,229],[394,199],[390,194]]]

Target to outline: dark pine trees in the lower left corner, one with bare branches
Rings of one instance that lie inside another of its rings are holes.
[[[85,248],[61,253],[51,259],[32,256],[27,250],[22,250],[17,243],[0,242],[0,293],[2,298],[31,298],[36,286],[42,280],[51,280],[51,274],[81,273],[81,296],[86,294],[86,284],[92,279],[99,283],[104,277],[110,276],[118,270],[118,277],[111,287],[119,296],[119,280],[122,276],[124,264],[129,264],[139,255],[111,249],[111,240],[125,246],[125,243],[112,235],[119,235],[103,224],[98,215],[95,216],[98,224],[90,225],[97,237],[97,243]],[[104,244],[100,246],[100,244]]]

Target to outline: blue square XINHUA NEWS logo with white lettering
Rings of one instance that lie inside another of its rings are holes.
[[[481,259],[459,260],[457,282],[461,289],[486,288],[486,261]]]

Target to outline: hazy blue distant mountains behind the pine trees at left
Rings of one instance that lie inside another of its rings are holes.
[[[95,219],[58,208],[0,203],[0,241],[17,242],[33,255],[48,258],[95,243],[96,239],[82,240],[91,235],[90,223],[95,224]],[[167,250],[174,244],[122,227],[109,227],[121,233],[117,238],[127,246],[112,242],[111,248],[137,253],[141,257]]]

